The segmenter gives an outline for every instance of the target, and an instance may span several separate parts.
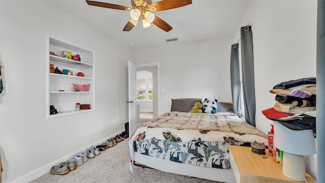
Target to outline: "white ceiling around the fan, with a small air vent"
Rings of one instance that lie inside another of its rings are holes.
[[[152,0],[152,3],[158,1]],[[99,0],[99,2],[132,7],[131,0]],[[52,0],[51,3],[122,44],[132,43],[135,47],[141,47],[170,44],[166,42],[166,39],[170,38],[178,38],[177,43],[180,43],[233,36],[240,28],[241,14],[245,11],[248,1],[192,0],[191,5],[154,12],[173,27],[168,33],[153,24],[148,28],[142,28],[140,21],[130,32],[123,32],[130,18],[129,11],[89,6],[82,0]]]

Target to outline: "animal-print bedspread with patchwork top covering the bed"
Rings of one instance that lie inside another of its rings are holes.
[[[143,124],[133,140],[139,154],[230,169],[229,145],[267,144],[267,135],[234,113],[168,112]]]

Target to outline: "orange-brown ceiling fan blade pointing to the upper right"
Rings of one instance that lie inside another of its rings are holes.
[[[192,4],[191,0],[164,0],[149,6],[152,11],[164,11]]]

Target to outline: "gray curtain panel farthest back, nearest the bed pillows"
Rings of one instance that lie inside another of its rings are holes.
[[[238,43],[232,45],[230,55],[230,78],[234,113],[241,116]]]

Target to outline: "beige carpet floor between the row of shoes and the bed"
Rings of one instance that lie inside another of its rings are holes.
[[[215,181],[195,177],[185,177],[174,173],[159,170],[134,167],[134,173],[129,170],[130,152],[129,138],[117,145],[101,151],[95,158],[88,159],[86,163],[65,175],[52,175],[46,173],[30,181],[31,183],[83,183],[83,182],[114,182],[114,183],[212,183]],[[49,170],[50,171],[50,170]]]

